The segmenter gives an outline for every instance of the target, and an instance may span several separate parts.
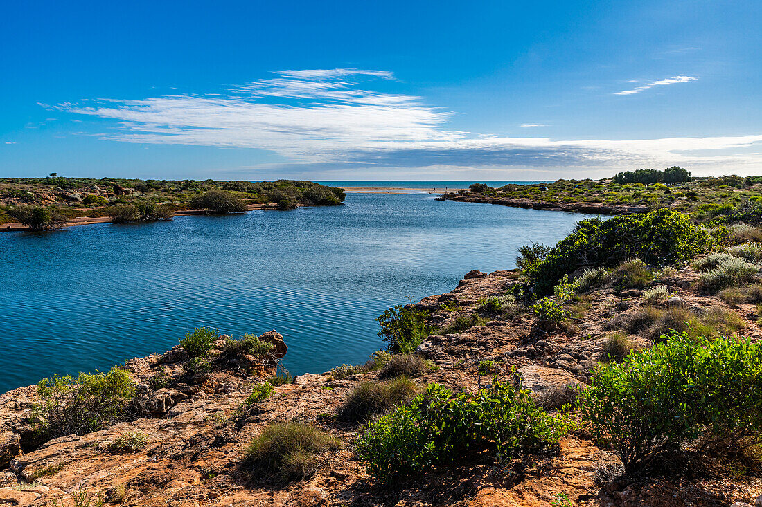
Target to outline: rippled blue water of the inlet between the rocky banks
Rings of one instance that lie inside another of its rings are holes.
[[[344,206],[0,234],[0,391],[164,352],[198,326],[278,330],[294,374],[364,362],[373,319],[470,269],[514,267],[581,218],[349,194]]]

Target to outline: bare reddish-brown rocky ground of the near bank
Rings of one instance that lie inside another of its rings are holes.
[[[473,271],[452,292],[424,298],[415,307],[429,312],[429,324],[447,327],[459,317],[478,314],[480,301],[504,294],[517,277],[517,271]],[[650,285],[668,287],[671,298],[660,303],[664,308],[685,308],[696,315],[720,308],[738,316],[739,334],[762,338],[754,305],[730,308],[716,296],[692,289],[696,278],[687,267]],[[606,357],[611,327],[642,309],[642,295],[642,289],[596,289],[581,303],[578,316],[555,330],[539,327],[531,311],[517,311],[461,332],[434,334],[418,348],[433,368],[413,380],[419,389],[437,382],[453,390],[475,391],[493,373],[511,379],[511,368],[517,368],[538,402],[556,409],[569,386],[589,381],[590,369]],[[280,334],[264,333],[261,339],[274,344],[275,359],[286,353]],[[633,335],[632,340],[650,345],[643,336]],[[223,348],[224,340],[214,343],[212,357],[219,357]],[[551,505],[558,494],[568,496],[571,505],[753,505],[762,493],[760,474],[734,475],[713,461],[687,475],[620,477],[615,454],[596,445],[584,430],[567,435],[556,454],[514,470],[475,461],[378,486],[353,452],[362,426],[336,416],[360,382],[378,381],[376,371],[344,378],[334,378],[331,372],[299,375],[293,383],[276,385],[253,410],[240,413],[255,383],[272,375],[276,365],[246,357],[235,364],[217,361],[208,373],[189,378],[182,373],[189,361],[180,346],[162,356],[130,359],[125,368],[137,384],[143,413],[98,432],[41,445],[34,432],[37,387],[0,395],[0,505],[75,505],[74,497],[82,491],[108,505],[177,507],[515,507]],[[494,366],[489,376],[482,374],[483,364]],[[158,382],[157,375],[174,380]],[[306,480],[283,484],[245,470],[242,461],[251,438],[272,422],[287,420],[319,426],[335,435],[341,447],[325,454]],[[145,445],[114,451],[113,442],[126,432],[146,435]]]

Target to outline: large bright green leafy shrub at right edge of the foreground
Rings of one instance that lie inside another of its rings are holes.
[[[581,414],[627,472],[703,433],[715,442],[762,435],[762,346],[674,335],[620,364],[598,365]]]

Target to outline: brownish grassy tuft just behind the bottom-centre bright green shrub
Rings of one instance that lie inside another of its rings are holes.
[[[363,382],[341,403],[338,416],[352,422],[367,421],[408,402],[413,395],[415,384],[405,376],[387,382]]]

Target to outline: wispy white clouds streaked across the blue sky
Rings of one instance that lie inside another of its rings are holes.
[[[281,167],[308,172],[326,167],[762,168],[759,135],[623,141],[460,132],[447,128],[450,111],[421,97],[373,90],[379,79],[394,76],[354,69],[291,70],[219,94],[83,100],[51,108],[114,120],[102,139],[258,148],[280,155]],[[694,79],[675,76],[646,86]]]

